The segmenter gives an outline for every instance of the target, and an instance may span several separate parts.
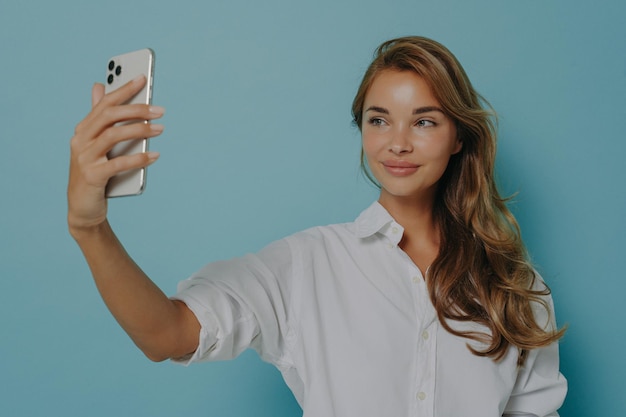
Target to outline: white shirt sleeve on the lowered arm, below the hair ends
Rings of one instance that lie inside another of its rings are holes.
[[[538,286],[544,285],[537,277]],[[535,316],[547,329],[556,329],[552,297],[547,309],[537,305]],[[520,368],[504,416],[558,417],[557,410],[567,394],[567,380],[559,371],[558,342],[528,352]]]

